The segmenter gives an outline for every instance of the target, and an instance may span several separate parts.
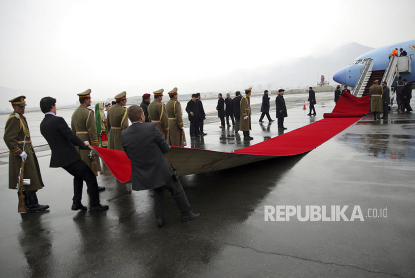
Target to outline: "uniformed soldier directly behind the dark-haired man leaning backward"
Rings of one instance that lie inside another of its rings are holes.
[[[91,89],[80,92],[79,107],[72,114],[70,126],[72,132],[82,141],[88,141],[90,145],[99,146],[98,135],[96,133],[95,114],[92,109],[88,107],[91,105]],[[80,159],[88,165],[88,167],[97,175],[97,171],[101,170],[99,157],[93,153],[92,150],[80,149],[75,146],[79,153]],[[92,166],[93,165],[93,166]],[[98,186],[98,190],[105,190],[105,187]]]

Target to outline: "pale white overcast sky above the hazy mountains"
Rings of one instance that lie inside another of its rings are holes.
[[[412,39],[412,8],[412,0],[0,0],[0,86],[71,103],[87,88],[95,99],[168,91],[348,42]]]

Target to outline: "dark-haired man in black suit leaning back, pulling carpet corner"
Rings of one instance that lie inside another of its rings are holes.
[[[92,170],[80,159],[75,149],[75,145],[85,148],[89,145],[88,141],[82,142],[66,121],[56,116],[56,99],[50,96],[40,100],[40,109],[45,114],[40,123],[40,133],[46,139],[52,152],[49,167],[62,167],[73,175],[73,203],[72,210],[86,210],[86,206],[81,203],[83,180],[86,181],[89,194],[89,211],[95,212],[108,209],[108,205],[101,205],[98,196],[98,182]]]

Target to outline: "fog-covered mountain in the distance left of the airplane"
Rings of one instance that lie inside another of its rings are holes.
[[[320,75],[324,75],[325,80],[334,85],[331,77],[337,70],[372,49],[374,48],[352,42],[336,49],[324,49],[321,54],[315,56],[293,58],[285,63],[274,62],[258,67],[241,68],[222,76],[200,79],[185,84],[184,89],[201,92],[242,91],[247,86],[256,89],[258,84],[262,85],[262,89],[267,88],[267,84],[273,86],[267,89],[308,87],[316,86],[317,82],[320,82]]]

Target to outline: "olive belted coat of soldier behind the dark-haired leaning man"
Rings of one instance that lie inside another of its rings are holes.
[[[83,141],[88,141],[90,145],[99,146],[98,135],[96,133],[95,113],[85,105],[79,105],[72,114],[70,123],[73,134]],[[79,149],[75,146],[79,153],[80,159],[91,168],[92,159],[89,157],[89,149]],[[101,170],[98,155],[95,154],[96,170]]]

